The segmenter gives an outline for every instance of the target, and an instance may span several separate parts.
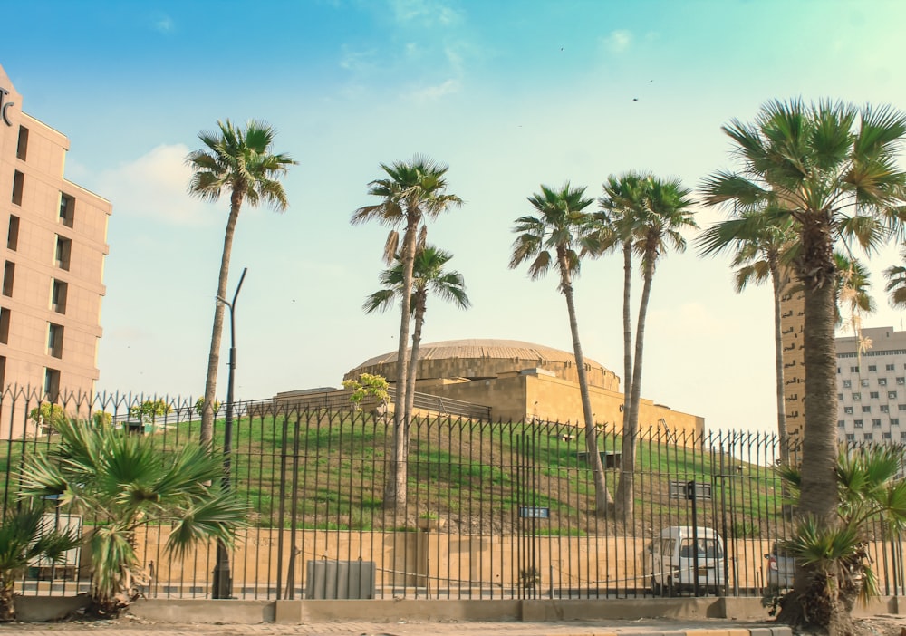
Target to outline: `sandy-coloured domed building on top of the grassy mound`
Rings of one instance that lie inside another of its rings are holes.
[[[487,406],[495,420],[583,422],[575,357],[571,352],[515,340],[473,339],[423,343],[416,391]],[[381,375],[392,387],[397,352],[362,362],[343,376]],[[585,359],[594,420],[622,426],[620,379],[599,362]],[[704,419],[641,400],[639,426],[701,433]]]

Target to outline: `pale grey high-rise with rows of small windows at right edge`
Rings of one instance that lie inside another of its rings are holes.
[[[906,443],[906,332],[863,329],[862,342],[837,338],[837,437]]]

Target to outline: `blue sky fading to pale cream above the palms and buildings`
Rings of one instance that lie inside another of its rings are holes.
[[[427,154],[466,201],[429,240],[454,253],[473,308],[429,304],[425,341],[569,351],[554,278],[507,269],[539,184],[597,197],[608,175],[646,169],[695,188],[732,165],[720,126],[774,98],[906,108],[904,18],[906,5],[881,0],[31,0],[5,6],[0,64],[24,111],[70,138],[67,177],[113,204],[101,390],[203,389],[227,204],[188,198],[183,159],[217,120],[275,126],[275,149],[299,161],[290,208],[244,208],[230,283],[248,268],[237,396],[260,399],[339,386],[396,349],[398,317],[361,312],[386,230],[349,225],[381,162]],[[871,262],[869,326],[901,328],[880,274],[896,258],[892,247]],[[619,257],[584,265],[576,294],[585,354],[622,373]],[[766,288],[734,294],[727,260],[691,248],[663,260],[645,397],[712,429],[771,430],[772,346]]]

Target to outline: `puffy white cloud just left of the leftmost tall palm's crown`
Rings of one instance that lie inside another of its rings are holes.
[[[113,204],[113,214],[148,217],[180,226],[209,222],[208,204],[186,193],[192,174],[183,144],[161,145],[134,161],[105,170],[98,191]]]

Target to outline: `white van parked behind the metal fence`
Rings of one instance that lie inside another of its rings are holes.
[[[724,542],[713,529],[672,525],[660,531],[648,550],[655,596],[692,592],[696,578],[699,593],[720,593],[725,578]]]

